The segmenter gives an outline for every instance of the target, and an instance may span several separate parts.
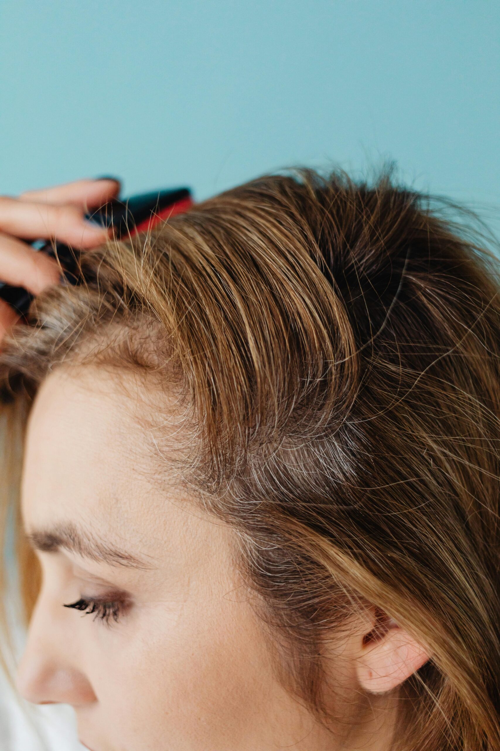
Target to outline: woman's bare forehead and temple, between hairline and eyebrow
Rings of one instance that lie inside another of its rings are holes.
[[[184,440],[184,415],[172,407],[151,418],[142,388],[131,375],[124,384],[98,369],[47,377],[26,434],[25,530],[83,529],[87,537],[154,562],[158,581],[165,566],[171,574],[206,568],[209,559],[227,567],[232,533],[199,508],[178,469],[175,442]],[[154,430],[166,435],[160,448]]]

